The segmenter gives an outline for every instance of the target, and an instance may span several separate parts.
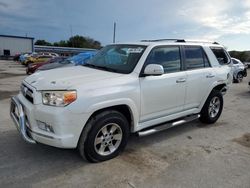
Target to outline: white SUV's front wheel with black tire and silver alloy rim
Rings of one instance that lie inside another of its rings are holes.
[[[115,110],[104,111],[86,124],[78,142],[78,151],[89,162],[112,159],[126,147],[129,124],[123,114]]]

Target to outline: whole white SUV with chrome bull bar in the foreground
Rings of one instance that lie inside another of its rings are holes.
[[[217,121],[230,63],[217,43],[112,44],[84,66],[27,77],[10,114],[27,142],[78,148],[89,161],[104,161],[125,148],[130,133]]]

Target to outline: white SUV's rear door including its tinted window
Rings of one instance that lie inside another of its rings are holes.
[[[184,110],[198,108],[208,88],[215,81],[215,71],[211,67],[201,46],[184,46],[187,90]]]

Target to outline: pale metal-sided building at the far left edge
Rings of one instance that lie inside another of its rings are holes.
[[[34,38],[0,35],[0,57],[13,57],[18,53],[33,52]]]

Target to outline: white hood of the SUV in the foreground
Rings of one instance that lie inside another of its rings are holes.
[[[76,89],[77,85],[113,79],[119,76],[122,76],[122,74],[74,66],[36,72],[25,78],[24,81],[37,90],[63,90]]]

